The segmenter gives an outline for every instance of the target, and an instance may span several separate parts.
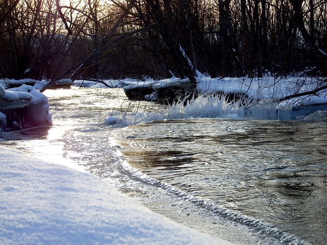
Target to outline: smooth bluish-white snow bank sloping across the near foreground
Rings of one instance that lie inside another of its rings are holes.
[[[185,228],[98,177],[0,146],[0,244],[230,244]]]

